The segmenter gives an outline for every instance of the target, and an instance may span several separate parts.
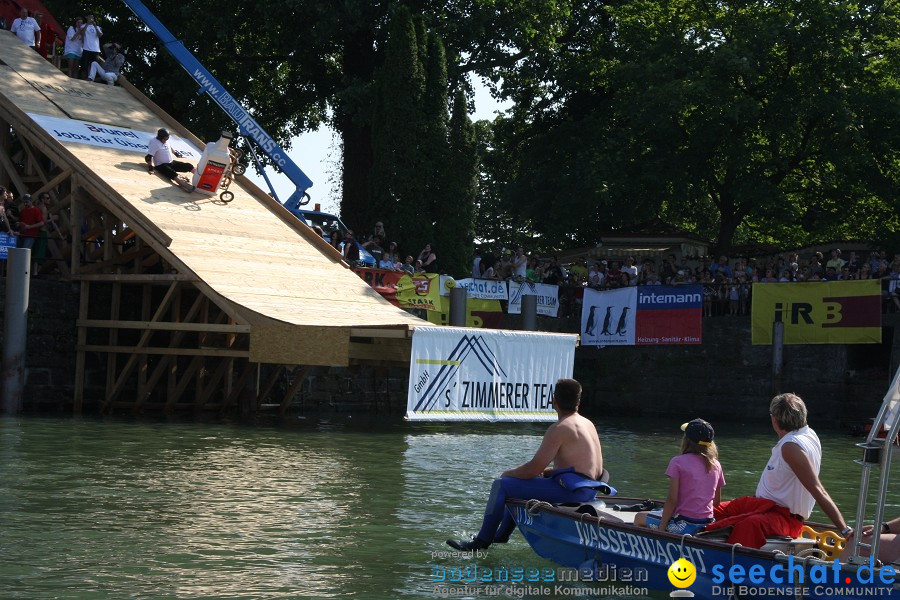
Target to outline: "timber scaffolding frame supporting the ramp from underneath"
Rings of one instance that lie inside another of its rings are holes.
[[[173,240],[159,225],[23,111],[28,104],[29,111],[40,113],[48,100],[58,108],[62,100],[41,91],[51,89],[41,81],[53,81],[56,75],[45,73],[47,65],[18,46],[0,40],[8,61],[0,69],[15,63],[19,70],[11,73],[32,88],[20,85],[14,96],[0,91],[0,185],[17,196],[50,195],[47,210],[53,221],[40,271],[80,283],[75,413],[95,407],[101,412],[244,414],[266,407],[284,413],[311,366],[408,364],[415,324],[408,316],[385,313],[385,325],[354,325],[378,322],[355,317],[334,326],[314,325],[309,319],[289,323],[213,289],[170,250]],[[81,89],[89,85],[83,82],[65,85],[69,87],[59,84],[51,91],[72,92],[75,98],[93,93],[93,88]],[[105,93],[107,86],[101,87]],[[201,144],[124,78],[122,87],[134,106]],[[329,255],[334,250],[327,242],[304,231],[256,186],[242,182],[241,187],[315,252],[340,260]],[[275,298],[273,306],[283,306],[283,300]],[[369,300],[365,307],[371,305]],[[369,310],[357,309],[357,314]]]

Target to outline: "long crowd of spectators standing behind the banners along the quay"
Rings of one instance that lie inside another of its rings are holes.
[[[342,239],[334,231],[323,235],[347,257],[354,239],[347,232]],[[437,255],[428,244],[416,256],[401,260],[396,242],[385,242],[384,224],[375,224],[371,235],[360,244],[376,260],[376,268],[407,271],[409,273],[441,273]],[[387,246],[385,248],[384,246]],[[351,249],[351,255],[352,255]],[[350,257],[354,264],[357,257]],[[882,282],[885,309],[900,312],[900,255],[888,259],[884,250],[870,252],[868,257],[856,252],[843,255],[834,248],[826,257],[822,252],[808,256],[785,253],[765,258],[728,256],[676,257],[607,257],[580,259],[561,263],[556,256],[528,254],[519,246],[515,251],[506,248],[476,250],[471,273],[451,273],[454,277],[510,280],[546,283],[560,286],[561,305],[568,304],[569,312],[577,310],[585,289],[611,290],[636,285],[691,285],[703,288],[704,316],[745,315],[750,312],[750,298],[754,283],[818,282],[876,279]]]

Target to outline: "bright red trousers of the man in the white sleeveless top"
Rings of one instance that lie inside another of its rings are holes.
[[[706,531],[733,526],[728,536],[729,544],[748,548],[762,548],[767,537],[788,535],[799,537],[803,521],[790,511],[766,498],[743,496],[722,502],[713,509],[715,522]]]

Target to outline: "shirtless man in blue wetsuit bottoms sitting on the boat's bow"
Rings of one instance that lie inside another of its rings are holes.
[[[558,419],[547,429],[541,446],[527,463],[504,471],[491,486],[481,530],[471,541],[447,540],[457,550],[506,543],[516,524],[506,510],[507,498],[547,502],[590,502],[603,473],[603,453],[594,424],[578,414],[581,384],[560,379],[553,392]],[[550,463],[553,468],[549,468]]]

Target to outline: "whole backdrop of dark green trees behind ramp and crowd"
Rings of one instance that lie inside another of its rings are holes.
[[[425,140],[470,73],[513,102],[475,127],[478,238],[587,245],[653,217],[722,249],[900,229],[896,0],[147,4],[283,146],[333,125],[344,220],[363,231],[397,210],[406,251],[452,238],[456,212],[434,203],[468,180],[427,169],[455,151]],[[124,4],[54,9],[94,10],[129,79],[202,137],[232,126]]]

